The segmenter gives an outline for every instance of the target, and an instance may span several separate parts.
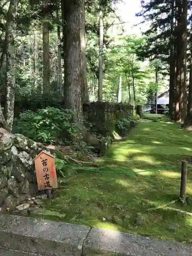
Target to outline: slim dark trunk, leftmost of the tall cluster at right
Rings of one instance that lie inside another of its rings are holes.
[[[172,9],[172,20],[170,23],[170,60],[169,60],[169,116],[170,118],[174,118],[175,116],[175,55],[174,55],[174,44],[175,44],[175,34],[174,34],[174,8],[175,8],[175,1],[172,0],[171,3]]]

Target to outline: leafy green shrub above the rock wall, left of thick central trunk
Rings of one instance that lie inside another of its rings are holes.
[[[47,107],[37,112],[24,111],[16,121],[15,132],[44,143],[67,142],[70,136],[78,133],[72,120],[70,110]]]

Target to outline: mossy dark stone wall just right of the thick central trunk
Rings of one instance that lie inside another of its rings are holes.
[[[92,102],[83,104],[83,114],[91,123],[91,132],[104,136],[111,135],[115,124],[120,118],[133,115],[134,107],[130,104]]]

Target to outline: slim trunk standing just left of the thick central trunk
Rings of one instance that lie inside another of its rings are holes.
[[[59,24],[60,18],[59,18],[59,10],[60,5],[58,0],[56,0],[57,10],[56,10],[56,16],[57,16],[57,22]],[[61,39],[60,37],[60,26],[57,25],[57,38]],[[61,63],[61,45],[58,46],[58,61],[57,61],[57,93],[58,95],[62,95],[62,63]]]

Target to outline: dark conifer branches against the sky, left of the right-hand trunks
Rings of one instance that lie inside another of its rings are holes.
[[[160,58],[162,61],[169,61],[170,24],[173,19],[171,3],[170,0],[151,0],[142,3],[142,10],[137,16],[142,16],[145,22],[150,20],[151,27],[145,31],[146,44],[140,47],[141,58]]]

